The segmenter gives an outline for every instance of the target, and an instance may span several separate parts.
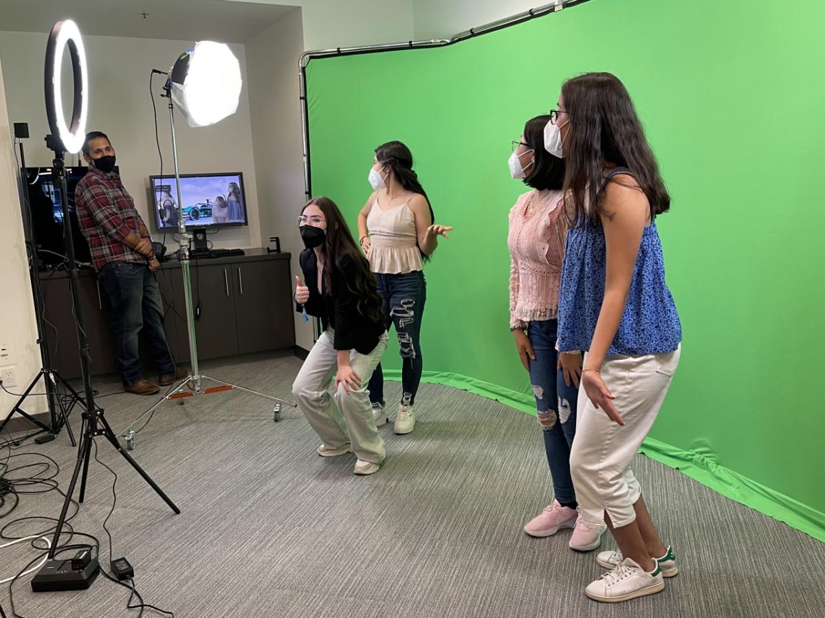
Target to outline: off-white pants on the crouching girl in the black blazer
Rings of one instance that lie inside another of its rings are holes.
[[[326,330],[315,342],[295,378],[292,394],[324,445],[335,449],[351,444],[359,459],[380,464],[386,456],[384,440],[375,428],[366,385],[387,349],[387,334],[381,335],[369,354],[351,351],[350,365],[361,377],[361,386],[350,392],[345,391],[343,385],[338,386],[332,400],[330,386],[337,371],[334,339],[332,331]]]

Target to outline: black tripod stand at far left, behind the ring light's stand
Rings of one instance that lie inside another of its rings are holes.
[[[25,127],[25,130],[23,128]],[[23,236],[25,237],[26,241],[26,249],[29,253],[29,276],[31,278],[31,293],[35,299],[35,320],[37,323],[37,344],[40,346],[40,362],[42,363],[41,369],[37,372],[37,375],[31,381],[29,386],[26,388],[26,391],[23,391],[23,394],[20,396],[20,399],[17,400],[16,404],[12,407],[12,411],[9,412],[8,416],[0,422],[0,433],[2,433],[3,428],[12,419],[14,414],[20,414],[23,418],[27,419],[30,423],[35,424],[35,426],[40,428],[40,432],[45,432],[43,436],[40,438],[35,438],[35,442],[43,444],[45,442],[51,442],[54,440],[57,433],[59,433],[62,427],[66,427],[66,431],[68,433],[68,438],[72,442],[72,446],[78,446],[78,443],[74,440],[74,433],[72,432],[71,425],[68,424],[68,414],[71,413],[75,403],[78,401],[81,405],[86,405],[86,402],[82,400],[82,397],[78,394],[78,391],[75,391],[73,387],[64,380],[64,377],[59,374],[59,372],[52,368],[51,365],[51,354],[49,351],[49,341],[46,339],[45,328],[44,328],[44,318],[43,315],[45,313],[45,303],[43,302],[43,290],[40,287],[40,276],[37,273],[37,246],[35,245],[35,235],[34,230],[31,226],[31,201],[29,199],[29,183],[26,179],[26,153],[23,151],[23,138],[27,138],[29,136],[28,127],[24,124],[20,127],[20,131],[18,131],[18,124],[15,124],[15,138],[20,139],[20,163],[21,163],[21,179],[23,184],[23,194],[22,194],[22,215],[23,215]],[[60,199],[65,201],[65,194],[60,194]],[[64,220],[66,225],[68,225],[68,220]],[[50,415],[50,425],[48,426],[44,423],[41,423],[38,419],[35,419],[31,414],[26,412],[21,408],[23,402],[26,400],[27,397],[31,396],[31,391],[34,391],[35,386],[40,382],[40,378],[44,378],[45,384],[45,393],[46,393],[46,401],[49,404],[49,415]],[[68,403],[62,397],[57,396],[59,391],[59,386],[62,386],[65,389],[65,392],[68,392],[70,397]],[[58,413],[58,406],[59,406],[59,413]]]

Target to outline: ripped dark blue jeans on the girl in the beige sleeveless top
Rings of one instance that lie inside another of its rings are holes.
[[[401,403],[413,405],[424,367],[421,355],[421,321],[427,302],[427,282],[422,271],[405,274],[375,274],[378,293],[384,299],[387,330],[395,325],[401,353]],[[370,402],[384,405],[384,372],[375,368],[370,384]]]

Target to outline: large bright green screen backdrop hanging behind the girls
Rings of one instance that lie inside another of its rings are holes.
[[[312,191],[356,233],[375,147],[407,143],[455,226],[426,267],[425,380],[533,412],[507,331],[507,213],[526,190],[510,142],[565,78],[615,73],[672,194],[658,223],[684,327],[642,450],[825,540],[823,23],[818,0],[592,0],[442,48],[314,59]],[[397,344],[384,358],[398,377]]]

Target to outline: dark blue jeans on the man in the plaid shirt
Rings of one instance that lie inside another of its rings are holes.
[[[111,302],[111,335],[115,344],[115,367],[124,386],[144,377],[140,366],[138,339],[144,330],[151,346],[152,362],[161,376],[175,374],[175,361],[169,352],[163,330],[163,302],[154,274],[147,265],[110,262],[97,278],[106,288]]]

